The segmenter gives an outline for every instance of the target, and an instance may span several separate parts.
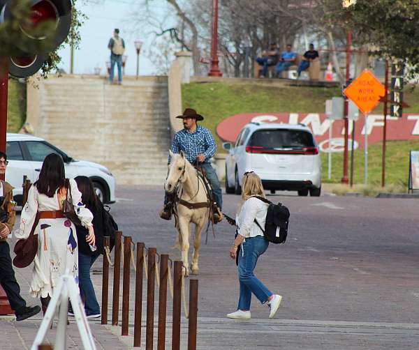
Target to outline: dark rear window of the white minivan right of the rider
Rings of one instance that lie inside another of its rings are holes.
[[[251,135],[249,146],[262,146],[267,149],[302,149],[313,147],[314,139],[310,132],[304,130],[258,130]]]

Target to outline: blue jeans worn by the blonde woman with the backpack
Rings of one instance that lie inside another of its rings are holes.
[[[268,245],[269,242],[263,236],[246,238],[246,241],[242,243],[238,265],[240,282],[238,310],[250,310],[252,293],[259,299],[260,303],[266,303],[267,299],[272,296],[272,292],[253,273],[258,257],[267,250]]]

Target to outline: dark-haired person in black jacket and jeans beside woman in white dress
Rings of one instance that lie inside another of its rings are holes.
[[[82,201],[93,214],[94,233],[96,236],[96,250],[86,242],[87,229],[76,227],[79,242],[79,287],[80,296],[84,300],[84,310],[88,319],[101,317],[93,284],[90,279],[90,268],[100,254],[103,254],[103,205],[101,200],[94,192],[93,183],[87,176],[77,176],[75,182],[78,189],[82,192]],[[73,312],[69,312],[73,316]]]

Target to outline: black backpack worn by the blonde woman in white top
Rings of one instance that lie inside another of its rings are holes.
[[[253,196],[265,203],[269,204],[267,207],[265,229],[263,229],[259,222],[255,219],[256,225],[263,231],[263,236],[271,243],[279,244],[285,243],[288,234],[288,222],[290,218],[290,211],[281,203],[273,204],[272,201],[259,196]]]

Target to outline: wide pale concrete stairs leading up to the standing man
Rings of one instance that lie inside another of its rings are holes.
[[[167,77],[64,75],[39,84],[36,135],[107,166],[117,183],[163,185],[170,146]]]

